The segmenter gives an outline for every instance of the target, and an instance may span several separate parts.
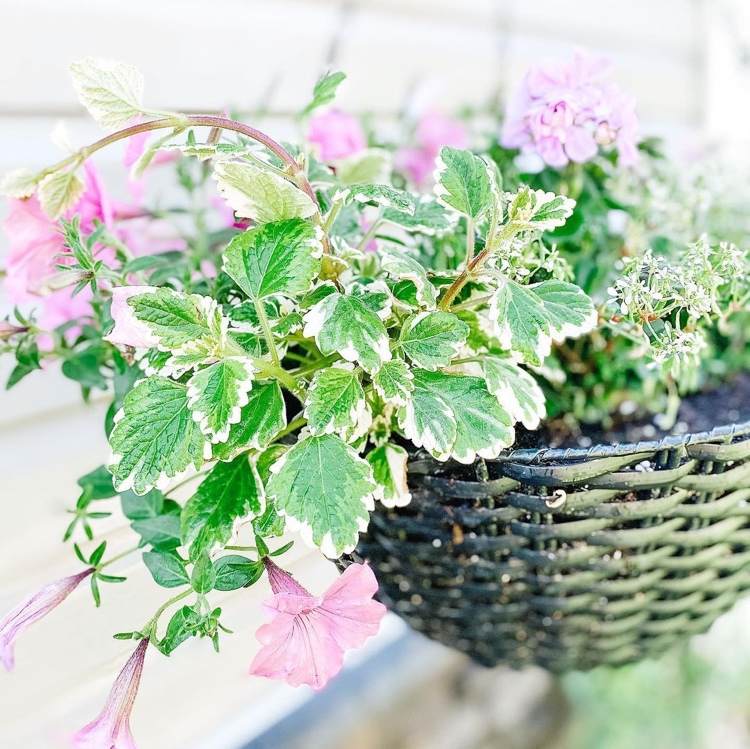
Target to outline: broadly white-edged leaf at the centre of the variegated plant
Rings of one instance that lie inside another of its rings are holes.
[[[305,314],[304,335],[315,338],[322,353],[338,353],[372,374],[391,359],[391,349],[383,321],[366,300],[366,294],[330,294]]]

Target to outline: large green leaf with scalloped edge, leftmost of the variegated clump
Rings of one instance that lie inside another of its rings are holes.
[[[205,438],[193,420],[187,388],[163,377],[137,383],[115,416],[109,470],[118,492],[163,489],[203,463]]]

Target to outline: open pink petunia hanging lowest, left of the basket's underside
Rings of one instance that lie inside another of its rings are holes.
[[[256,633],[263,647],[250,673],[322,689],[341,670],[344,652],[380,628],[385,606],[372,600],[375,575],[366,564],[351,564],[322,596],[313,596],[271,560],[265,563],[275,594],[265,604],[272,618]]]

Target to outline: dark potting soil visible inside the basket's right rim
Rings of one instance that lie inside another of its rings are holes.
[[[663,417],[662,417],[663,418]],[[591,447],[596,444],[632,443],[667,435],[709,432],[715,427],[750,421],[750,372],[722,385],[687,396],[670,428],[660,428],[660,416],[622,421],[612,429],[582,424],[575,433],[555,424],[529,432],[517,429],[515,447]]]

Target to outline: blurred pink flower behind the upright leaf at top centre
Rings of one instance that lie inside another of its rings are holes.
[[[435,159],[443,146],[466,148],[469,134],[459,120],[431,111],[423,115],[415,130],[416,146],[396,152],[396,168],[418,187],[426,187],[435,170]]]

